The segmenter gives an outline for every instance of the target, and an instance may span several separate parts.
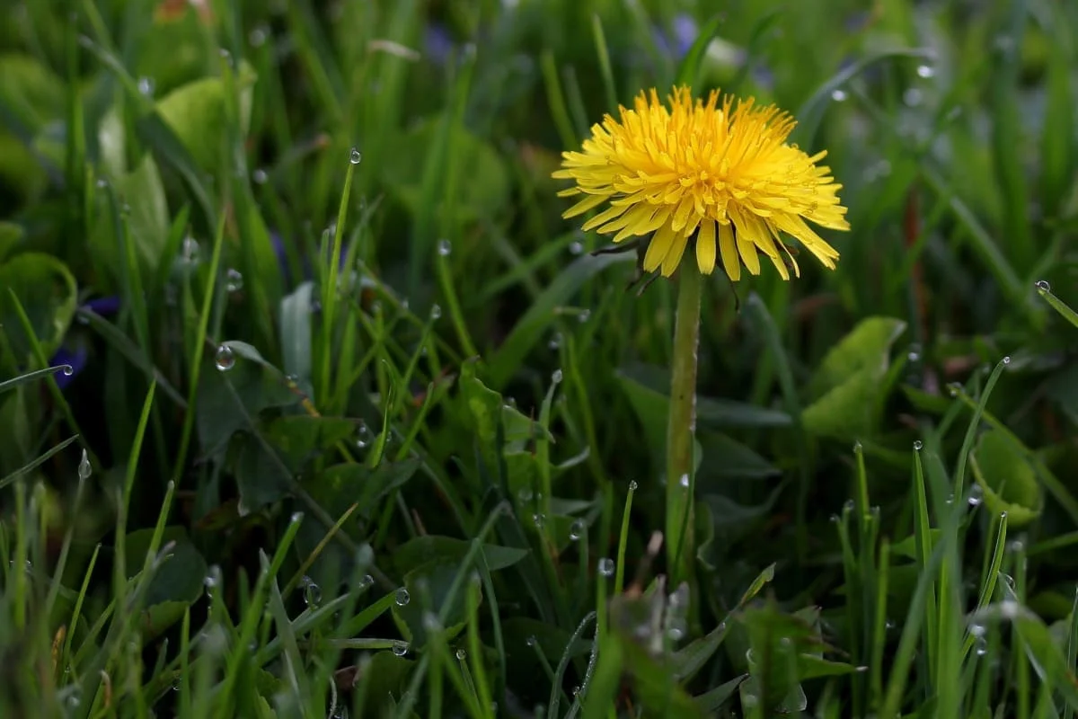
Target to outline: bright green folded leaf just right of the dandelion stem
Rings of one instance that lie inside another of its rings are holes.
[[[871,437],[879,425],[890,347],[906,322],[861,320],[825,357],[810,383],[816,401],[802,413],[805,429],[839,440]]]

